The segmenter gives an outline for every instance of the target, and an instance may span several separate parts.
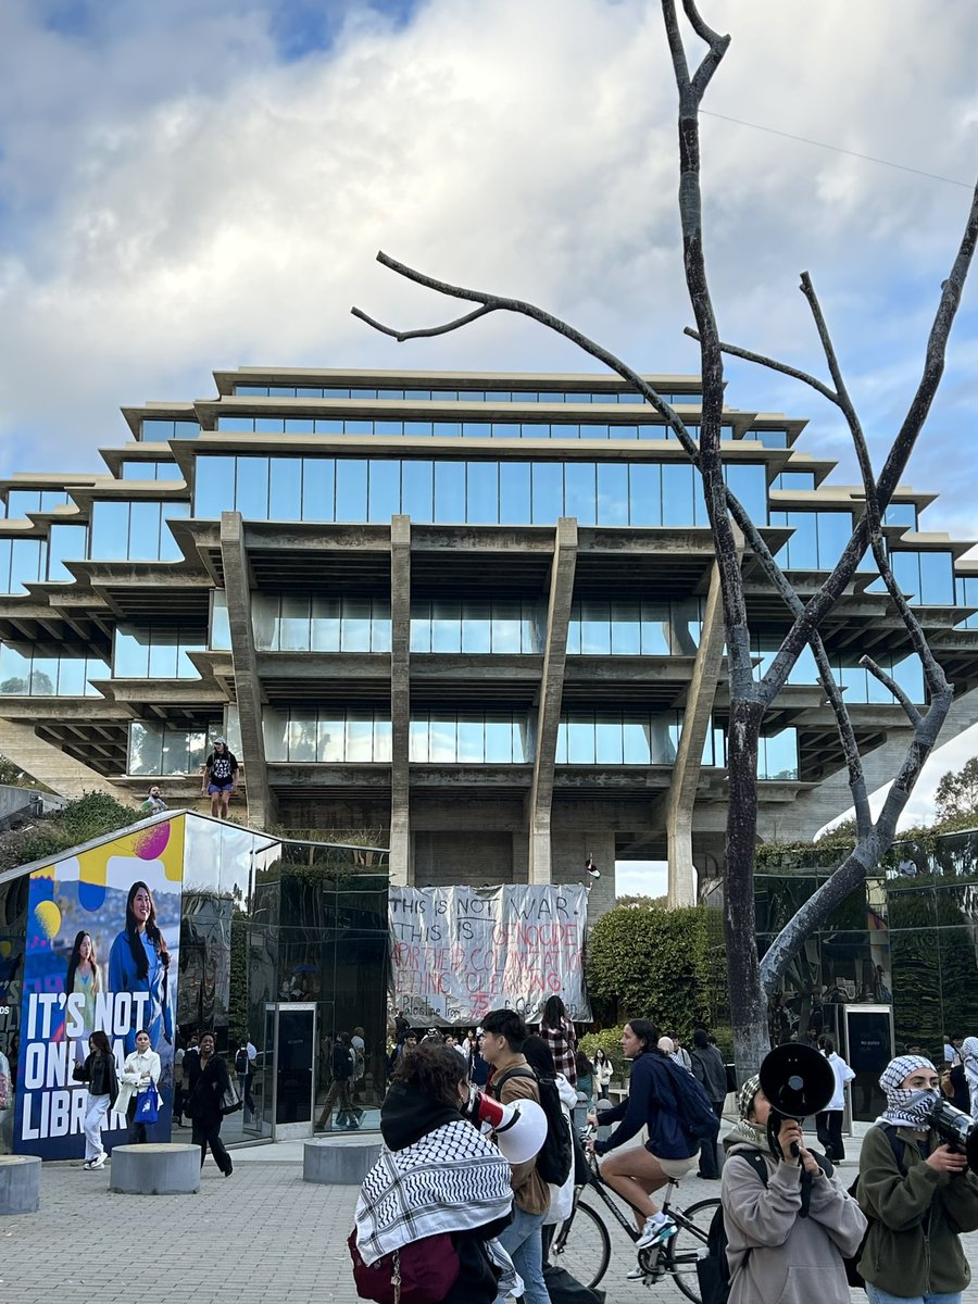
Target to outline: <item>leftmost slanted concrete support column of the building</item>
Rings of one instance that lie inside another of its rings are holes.
[[[240,511],[220,514],[220,559],[231,627],[235,696],[241,722],[248,823],[257,828],[267,828],[275,818],[275,802],[269,788],[269,767],[265,762],[262,690],[252,625],[252,569],[245,550],[244,520]]]

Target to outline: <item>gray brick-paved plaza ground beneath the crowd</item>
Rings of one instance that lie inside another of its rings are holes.
[[[855,1138],[841,1168],[846,1183],[855,1176],[858,1145]],[[46,1164],[40,1211],[0,1218],[0,1300],[353,1304],[346,1239],[356,1188],[304,1183],[301,1153],[301,1142],[237,1150],[230,1179],[209,1159],[196,1196],[115,1196],[107,1172]],[[679,1202],[719,1189],[716,1181],[687,1178]],[[965,1243],[978,1264],[978,1234]],[[626,1282],[631,1245],[617,1227],[612,1244],[602,1282],[609,1304],[679,1304],[683,1296],[668,1278],[652,1290]],[[978,1284],[965,1299],[978,1304]],[[853,1300],[865,1304],[866,1296],[853,1292]]]

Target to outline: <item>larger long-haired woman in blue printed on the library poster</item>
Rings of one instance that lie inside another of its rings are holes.
[[[145,991],[149,1000],[142,1016],[133,1011],[125,1034],[126,1055],[136,1050],[136,1029],[145,1028],[155,1050],[160,1037],[173,1041],[173,1013],[170,1008],[170,952],[156,925],[156,906],[146,883],[137,880],[125,902],[125,928],[108,953],[108,990],[111,992]]]

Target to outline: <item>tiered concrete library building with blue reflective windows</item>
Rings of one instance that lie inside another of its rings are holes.
[[[196,805],[209,737],[244,760],[252,824],[376,833],[394,882],[576,882],[668,858],[670,897],[716,871],[728,690],[698,477],[605,374],[245,368],[216,395],[124,408],[106,475],[0,482],[0,751],[63,794],[166,785]],[[695,429],[699,382],[653,383]],[[730,484],[802,595],[859,490],[795,450],[805,422],[728,408]],[[887,512],[896,572],[978,717],[978,570]],[[743,559],[758,666],[786,629]],[[906,735],[870,652],[921,702],[871,569],[823,635],[863,748]],[[762,835],[846,805],[810,659],[768,717]],[[870,760],[872,767],[872,759]]]

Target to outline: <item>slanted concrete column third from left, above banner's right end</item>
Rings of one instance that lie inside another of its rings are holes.
[[[578,522],[561,516],[554,536],[550,563],[550,595],[546,606],[546,645],[544,673],[536,713],[536,747],[533,752],[533,785],[529,792],[529,883],[550,883],[553,861],[550,848],[550,810],[557,762],[557,729],[563,700],[563,669],[567,661],[567,627],[574,597],[574,572],[578,565]]]

